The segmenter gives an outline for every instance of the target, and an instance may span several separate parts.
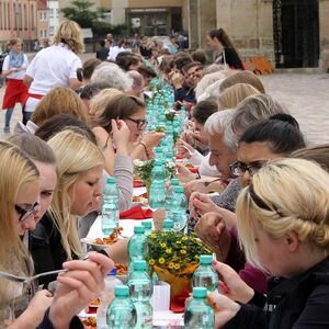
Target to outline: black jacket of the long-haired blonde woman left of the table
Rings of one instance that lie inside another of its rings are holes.
[[[34,261],[35,273],[60,270],[67,261],[67,253],[61,245],[61,237],[49,213],[46,213],[37,223],[30,236],[30,249]],[[77,259],[73,256],[73,259]],[[48,285],[57,275],[39,279],[38,284]]]

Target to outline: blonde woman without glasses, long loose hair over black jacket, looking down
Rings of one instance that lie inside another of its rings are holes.
[[[61,269],[63,262],[81,256],[77,217],[93,211],[102,193],[104,158],[93,143],[65,131],[50,138],[48,145],[57,160],[58,185],[50,211],[32,234],[36,273]],[[55,279],[47,276],[41,283]]]

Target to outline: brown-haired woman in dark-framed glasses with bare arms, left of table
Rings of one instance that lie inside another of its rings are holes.
[[[120,94],[112,98],[103,113],[94,120],[93,132],[97,135],[99,147],[104,151],[106,171],[113,172],[115,145],[112,140],[112,120],[123,120],[129,129],[128,154],[133,159],[147,159],[152,155],[163,133],[150,132],[143,134],[146,121],[146,104],[138,98]]]

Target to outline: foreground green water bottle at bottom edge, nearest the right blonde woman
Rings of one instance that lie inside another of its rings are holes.
[[[184,313],[185,329],[213,329],[215,313],[206,300],[207,290],[194,287],[193,298],[190,300]]]

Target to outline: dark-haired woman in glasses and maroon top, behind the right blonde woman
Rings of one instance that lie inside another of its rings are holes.
[[[252,182],[253,174],[268,161],[287,157],[292,151],[305,147],[297,122],[287,114],[280,114],[251,126],[239,140],[238,161],[232,163],[232,174],[239,177],[241,186]],[[194,195],[194,207],[203,206],[202,197]],[[239,266],[241,256],[236,231],[234,213],[217,207],[218,211],[207,213],[196,224],[197,236],[213,247],[217,259],[225,261],[235,270]],[[229,219],[229,220],[228,220]],[[227,227],[230,227],[228,230]],[[248,264],[239,270],[241,279],[259,292],[264,291],[264,277]],[[262,280],[261,280],[262,279]]]

